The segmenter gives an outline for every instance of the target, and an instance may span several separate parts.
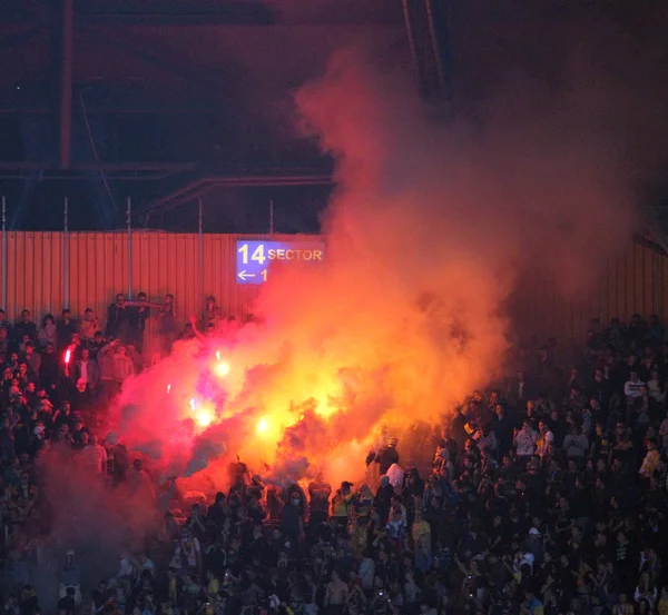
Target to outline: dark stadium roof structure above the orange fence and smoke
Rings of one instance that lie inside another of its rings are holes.
[[[135,214],[146,215],[219,187],[324,189],[331,161],[296,135],[292,97],[336,49],[373,39],[412,65],[425,97],[466,100],[493,87],[499,62],[558,62],[550,32],[582,7],[592,10],[583,0],[0,0],[0,195],[11,188],[28,211],[66,182],[96,182],[139,195]]]

